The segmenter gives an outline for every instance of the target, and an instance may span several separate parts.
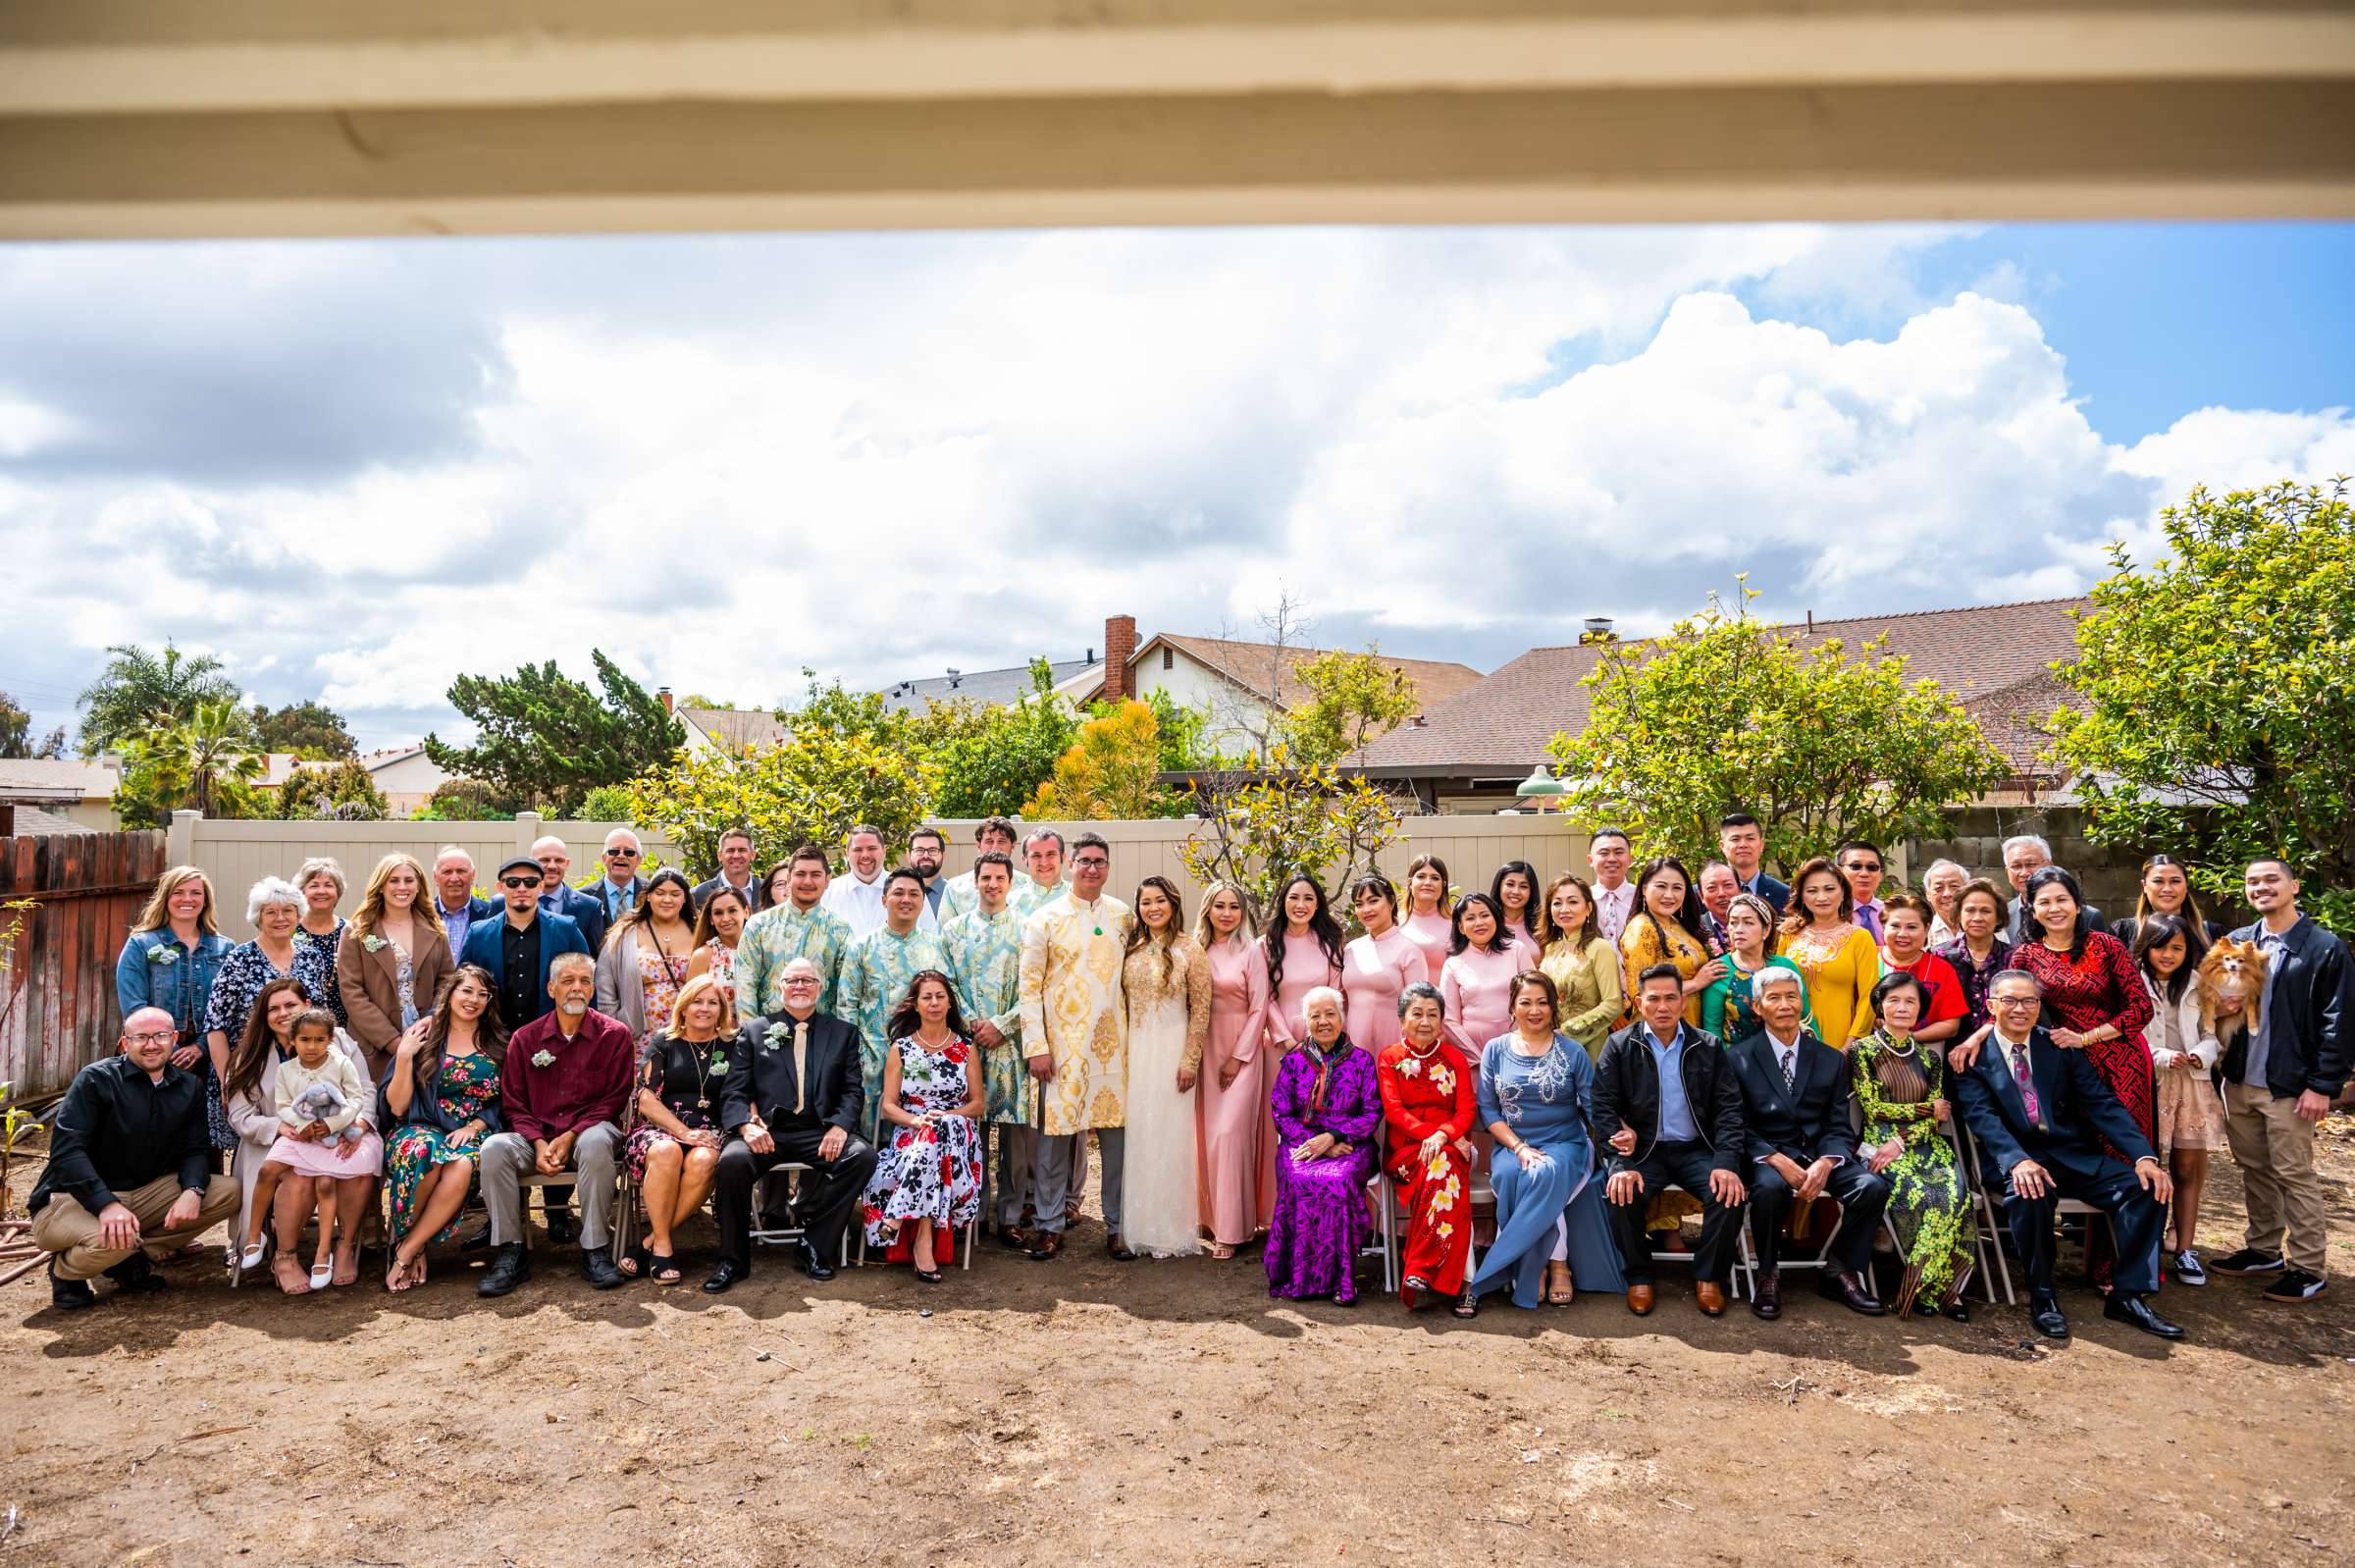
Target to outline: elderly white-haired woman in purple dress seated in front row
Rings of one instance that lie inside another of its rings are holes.
[[[1331,1295],[1356,1302],[1356,1253],[1373,1234],[1373,1180],[1382,1088],[1373,1052],[1349,1045],[1342,996],[1309,991],[1300,1010],[1309,1038],[1276,1069],[1276,1212],[1267,1227],[1267,1295]]]

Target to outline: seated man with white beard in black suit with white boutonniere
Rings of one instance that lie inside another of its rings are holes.
[[[834,1278],[850,1205],[867,1191],[876,1151],[860,1137],[860,1034],[817,1010],[817,965],[784,965],[784,1010],[751,1017],[737,1031],[721,1092],[721,1125],[735,1137],[721,1151],[714,1210],[721,1262],[704,1281],[718,1295],[751,1274],[751,1189],[782,1163],[810,1165],[801,1177],[801,1271]]]

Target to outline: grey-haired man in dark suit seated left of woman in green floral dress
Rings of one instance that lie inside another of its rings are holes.
[[[1783,1227],[1797,1198],[1832,1194],[1839,1234],[1818,1290],[1849,1311],[1882,1316],[1865,1285],[1872,1236],[1889,1208],[1889,1180],[1856,1158],[1849,1128],[1849,1059],[1806,1029],[1806,1003],[1795,970],[1764,968],[1750,979],[1750,1005],[1764,1029],[1729,1048],[1743,1090],[1743,1130],[1750,1154],[1750,1238],[1759,1250],[1759,1288],[1750,1311],[1783,1316]]]

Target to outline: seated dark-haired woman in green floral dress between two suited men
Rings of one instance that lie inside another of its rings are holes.
[[[1865,1116],[1856,1151],[1870,1170],[1889,1177],[1889,1224],[1905,1255],[1896,1311],[1912,1307],[1933,1318],[1943,1309],[1969,1323],[1962,1288],[1978,1257],[1978,1220],[1945,1132],[1955,1118],[1945,1059],[1938,1048],[1912,1038],[1926,1001],[1922,982],[1905,970],[1889,970],[1872,986],[1872,1015],[1882,1026],[1849,1048],[1856,1104]]]

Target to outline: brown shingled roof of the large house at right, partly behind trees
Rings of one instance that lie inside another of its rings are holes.
[[[2087,598],[2042,598],[1792,624],[1787,631],[1799,633],[1802,647],[1830,638],[1858,647],[1886,633],[1889,652],[1908,659],[1908,673],[1955,692],[1988,742],[2025,770],[2046,744],[2035,723],[2068,699],[2049,666],[2075,652],[2072,612],[2089,605]],[[1592,692],[1580,680],[1599,659],[1592,643],[1531,647],[1470,690],[1427,706],[1422,723],[1373,742],[1361,770],[1394,777],[1528,772],[1550,760],[1545,744],[1557,732],[1585,727]]]

